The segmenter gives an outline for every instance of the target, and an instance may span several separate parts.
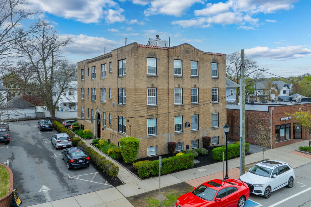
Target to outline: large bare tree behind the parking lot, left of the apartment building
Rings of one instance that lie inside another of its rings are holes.
[[[34,68],[37,87],[44,97],[51,118],[55,117],[58,101],[58,99],[56,102],[53,100],[55,77],[63,78],[68,74],[73,74],[68,68],[68,61],[63,59],[61,52],[61,47],[70,43],[72,43],[70,38],[59,38],[57,31],[47,24],[42,25],[39,31],[19,38],[16,43],[16,48],[20,49]],[[62,90],[66,89],[66,87],[62,88]]]

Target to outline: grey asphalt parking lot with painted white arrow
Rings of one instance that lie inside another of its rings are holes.
[[[58,132],[40,132],[37,122],[11,122],[10,143],[0,145],[0,163],[12,169],[14,187],[23,202],[20,206],[113,187],[92,165],[68,170],[62,149],[55,150],[51,144],[51,136]]]

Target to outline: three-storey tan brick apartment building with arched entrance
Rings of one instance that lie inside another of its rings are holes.
[[[166,154],[167,142],[202,147],[203,136],[223,145],[225,61],[190,44],[131,43],[78,62],[78,122],[116,145],[138,138],[137,158]]]

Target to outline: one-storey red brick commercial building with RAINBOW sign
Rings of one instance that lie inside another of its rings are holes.
[[[303,105],[302,105],[303,104]],[[306,106],[304,106],[306,105]],[[230,126],[228,138],[240,140],[240,106],[227,105],[227,123]],[[297,125],[297,120],[290,114],[295,111],[311,110],[310,102],[278,101],[266,104],[245,105],[245,139],[255,144],[258,126],[261,124],[270,137],[270,148],[292,144],[295,140],[311,139],[311,133]]]

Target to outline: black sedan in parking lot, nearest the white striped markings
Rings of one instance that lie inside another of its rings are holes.
[[[67,169],[76,169],[90,166],[90,158],[82,147],[70,147],[62,151],[62,159],[67,164]]]

